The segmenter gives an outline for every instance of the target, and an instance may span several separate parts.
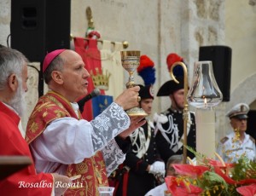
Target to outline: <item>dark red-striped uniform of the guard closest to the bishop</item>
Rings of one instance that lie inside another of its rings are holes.
[[[153,164],[154,161],[160,160],[152,126],[152,123],[150,126],[147,122],[130,136],[132,147],[126,154],[123,164],[124,169],[122,175],[119,176],[119,187],[116,195],[141,196],[158,185],[154,175],[149,174],[147,171],[148,164]],[[146,146],[146,152],[141,149],[137,153],[138,149],[143,146]]]

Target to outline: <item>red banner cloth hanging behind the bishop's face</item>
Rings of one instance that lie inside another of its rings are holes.
[[[101,53],[97,49],[97,40],[96,39],[89,39],[84,40],[82,37],[75,37],[74,38],[74,44],[75,44],[75,51],[81,55],[85,68],[87,71],[91,74],[96,74],[96,69],[99,70],[100,73],[102,73],[102,64],[101,64]],[[95,89],[95,86],[92,82],[91,77],[88,78],[88,92],[90,93],[93,89]],[[104,95],[104,90],[101,90],[101,95]],[[82,98],[82,97],[81,97]],[[84,119],[90,121],[93,119],[93,110],[92,110],[92,102],[87,101],[84,104],[84,112],[82,113],[82,116]]]

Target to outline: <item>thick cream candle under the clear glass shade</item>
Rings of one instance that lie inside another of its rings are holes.
[[[196,108],[196,152],[214,158],[215,112],[212,109]]]

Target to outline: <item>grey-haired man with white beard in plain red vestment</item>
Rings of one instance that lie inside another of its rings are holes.
[[[27,156],[29,147],[19,127],[25,112],[27,91],[27,60],[15,49],[0,48],[0,156]],[[34,164],[0,181],[1,195],[62,195],[67,187],[55,187],[54,182],[68,184],[67,176],[37,174]]]

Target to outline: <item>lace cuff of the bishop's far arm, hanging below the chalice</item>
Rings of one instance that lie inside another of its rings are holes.
[[[114,139],[108,142],[108,146],[102,149],[102,153],[108,176],[119,166],[119,164],[122,164],[125,161],[125,154]]]

